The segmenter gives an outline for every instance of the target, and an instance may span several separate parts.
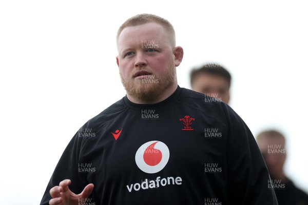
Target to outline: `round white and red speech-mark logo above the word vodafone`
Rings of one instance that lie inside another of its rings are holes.
[[[154,140],[143,144],[136,152],[136,164],[145,173],[153,174],[167,165],[170,152],[164,142]]]

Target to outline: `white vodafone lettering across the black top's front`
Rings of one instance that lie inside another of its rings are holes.
[[[167,178],[162,178],[160,176],[158,176],[155,180],[148,180],[145,179],[143,182],[140,183],[134,183],[131,184],[130,186],[126,185],[127,189],[129,192],[132,191],[132,189],[134,191],[139,191],[140,189],[154,189],[154,188],[159,188],[159,185],[161,186],[166,186],[166,185],[170,185],[172,183],[172,185],[174,185],[176,183],[176,185],[182,185],[182,178],[181,177],[167,177]]]

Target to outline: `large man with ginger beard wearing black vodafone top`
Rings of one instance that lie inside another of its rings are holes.
[[[183,49],[166,19],[127,19],[117,47],[126,96],[75,134],[41,204],[277,204],[243,120],[178,86]]]

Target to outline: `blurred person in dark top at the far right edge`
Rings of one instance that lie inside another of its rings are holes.
[[[308,195],[298,189],[283,171],[286,159],[285,137],[276,130],[263,131],[257,136],[257,144],[272,178],[279,205],[308,205]]]

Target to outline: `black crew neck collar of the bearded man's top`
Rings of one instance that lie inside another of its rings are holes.
[[[124,104],[133,110],[140,110],[140,109],[144,109],[144,108],[163,108],[165,106],[168,106],[170,104],[172,104],[179,96],[180,92],[181,92],[181,88],[178,85],[176,91],[174,93],[172,93],[169,97],[167,97],[166,99],[164,99],[163,101],[160,101],[159,103],[156,104],[136,104],[136,103],[132,103],[128,98],[127,95],[125,95],[123,97],[124,100]]]

